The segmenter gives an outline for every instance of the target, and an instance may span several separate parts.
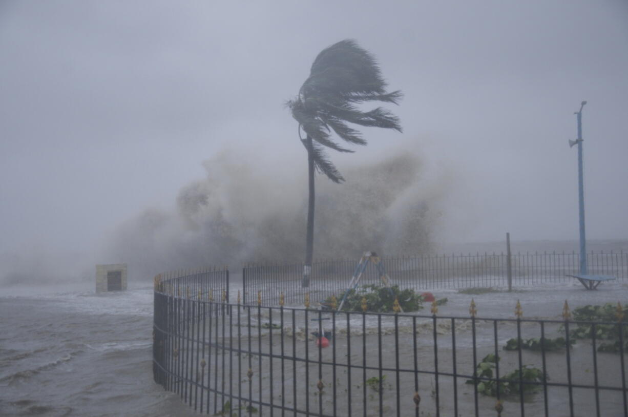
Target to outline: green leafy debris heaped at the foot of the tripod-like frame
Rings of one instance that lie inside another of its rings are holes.
[[[340,305],[343,296],[344,292],[336,296],[338,305]],[[404,313],[419,311],[423,308],[423,297],[411,288],[399,290],[398,285],[387,287],[377,284],[366,284],[349,290],[345,303],[342,305],[342,310],[362,311],[362,298],[366,299],[366,311],[375,313],[392,313],[394,311],[395,298],[399,300],[399,306],[401,306]],[[327,298],[324,303],[331,305],[332,298]]]

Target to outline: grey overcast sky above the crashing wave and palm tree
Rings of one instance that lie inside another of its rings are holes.
[[[588,100],[587,235],[628,237],[625,0],[3,0],[0,251],[89,251],[225,148],[305,181],[284,102],[345,38],[403,90],[404,133],[365,131],[341,171],[413,147],[458,184],[442,239],[577,239]]]

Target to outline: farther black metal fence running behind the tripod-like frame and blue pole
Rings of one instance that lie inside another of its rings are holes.
[[[628,278],[628,253],[589,252],[590,274]],[[570,280],[567,274],[580,270],[576,252],[534,252],[512,254],[512,286],[528,286]],[[401,288],[433,290],[436,288],[470,288],[508,286],[507,254],[452,254],[441,256],[383,257],[387,273]],[[305,292],[321,300],[338,295],[347,288],[357,261],[316,261],[312,264],[310,286],[301,287],[303,264],[251,264],[242,271],[244,304],[256,304],[261,291],[262,302],[276,303],[278,288],[284,291],[287,303],[300,303]],[[379,283],[377,269],[369,266],[360,284]]]

